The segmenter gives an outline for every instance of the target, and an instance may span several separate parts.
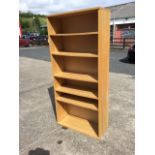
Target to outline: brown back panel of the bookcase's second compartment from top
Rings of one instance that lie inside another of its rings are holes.
[[[57,51],[97,53],[98,50],[97,35],[54,36],[52,40]]]

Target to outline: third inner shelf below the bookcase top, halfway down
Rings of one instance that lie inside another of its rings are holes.
[[[59,72],[54,75],[57,78],[79,80],[85,82],[97,83],[97,75],[81,74],[81,73],[71,73],[71,72]]]

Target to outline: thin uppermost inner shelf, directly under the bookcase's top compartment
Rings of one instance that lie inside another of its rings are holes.
[[[97,35],[98,32],[83,32],[83,33],[57,33],[57,34],[51,34],[50,36],[83,36],[83,35]]]

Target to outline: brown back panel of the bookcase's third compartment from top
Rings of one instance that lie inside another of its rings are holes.
[[[57,68],[60,71],[96,74],[97,75],[97,60],[94,58],[74,58],[74,57],[57,57],[55,56]]]

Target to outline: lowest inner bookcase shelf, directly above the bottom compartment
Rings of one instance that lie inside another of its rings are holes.
[[[97,100],[92,100],[92,99],[87,99],[87,98],[81,98],[73,95],[61,95],[56,98],[57,101],[66,103],[66,104],[71,104],[74,106],[82,107],[85,109],[90,109],[97,111]]]

